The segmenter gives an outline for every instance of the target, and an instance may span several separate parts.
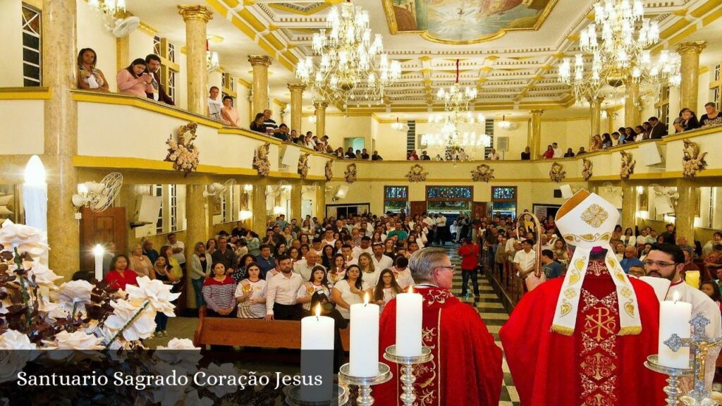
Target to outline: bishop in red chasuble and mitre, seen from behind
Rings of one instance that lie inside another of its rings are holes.
[[[617,220],[586,190],[557,212],[575,247],[569,269],[525,294],[499,333],[522,405],[664,405],[664,376],[644,366],[657,353],[659,302],[619,266]]]

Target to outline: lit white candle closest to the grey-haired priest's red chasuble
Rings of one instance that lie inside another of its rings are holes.
[[[417,357],[421,355],[421,323],[423,298],[418,293],[396,295],[396,355]]]

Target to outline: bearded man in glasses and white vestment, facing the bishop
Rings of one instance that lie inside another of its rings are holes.
[[[701,290],[684,283],[680,272],[684,269],[684,252],[673,244],[655,244],[644,259],[644,269],[648,276],[663,277],[671,282],[667,290],[667,301],[683,301],[692,304],[692,317],[702,314],[710,324],[705,327],[707,337],[722,336],[722,317],[717,303]],[[705,389],[712,388],[715,376],[715,363],[720,347],[713,347],[707,353],[705,363]]]

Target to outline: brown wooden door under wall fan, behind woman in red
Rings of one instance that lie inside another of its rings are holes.
[[[109,207],[96,213],[87,207],[82,209],[80,221],[80,252],[83,270],[95,269],[95,262],[90,251],[95,244],[107,247],[116,244],[116,254],[128,254],[126,209],[125,207]]]

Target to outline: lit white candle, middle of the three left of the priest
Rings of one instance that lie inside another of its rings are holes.
[[[351,305],[351,332],[349,343],[349,374],[351,376],[378,375],[378,305],[368,303]]]

